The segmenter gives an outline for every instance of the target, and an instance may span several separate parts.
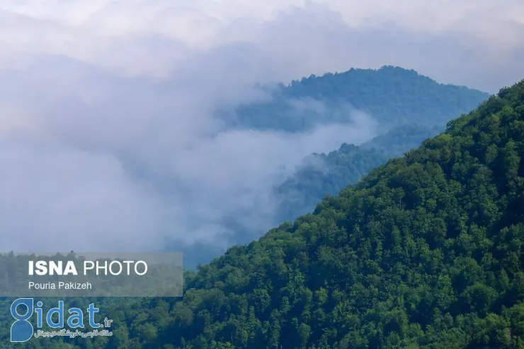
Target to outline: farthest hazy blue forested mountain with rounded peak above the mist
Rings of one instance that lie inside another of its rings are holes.
[[[229,126],[296,132],[347,123],[348,110],[355,109],[370,114],[387,130],[412,123],[445,124],[489,97],[394,66],[312,75],[264,89],[269,100],[222,110],[220,117]]]

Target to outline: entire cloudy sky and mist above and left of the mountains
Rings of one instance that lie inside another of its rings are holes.
[[[524,78],[524,2],[4,0],[0,45],[4,249],[222,246],[232,216],[270,227],[269,188],[304,156],[377,125],[230,131],[218,105],[385,64],[495,93]]]

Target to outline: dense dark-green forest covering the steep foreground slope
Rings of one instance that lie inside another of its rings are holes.
[[[115,336],[25,348],[524,348],[523,158],[521,81],[182,299],[106,300]]]

